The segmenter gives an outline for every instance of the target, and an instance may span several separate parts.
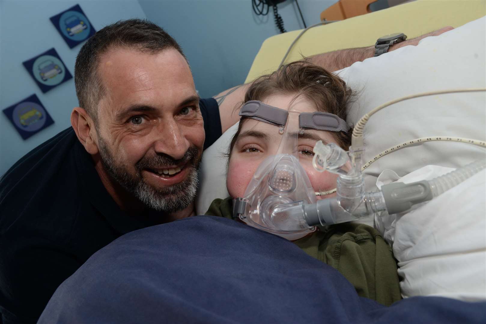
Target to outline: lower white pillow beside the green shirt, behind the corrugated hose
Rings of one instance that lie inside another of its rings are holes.
[[[427,166],[399,179],[385,170],[377,186],[431,180],[453,169]],[[387,178],[387,180],[383,180]],[[486,299],[486,171],[408,213],[376,216],[399,261],[403,297]]]

